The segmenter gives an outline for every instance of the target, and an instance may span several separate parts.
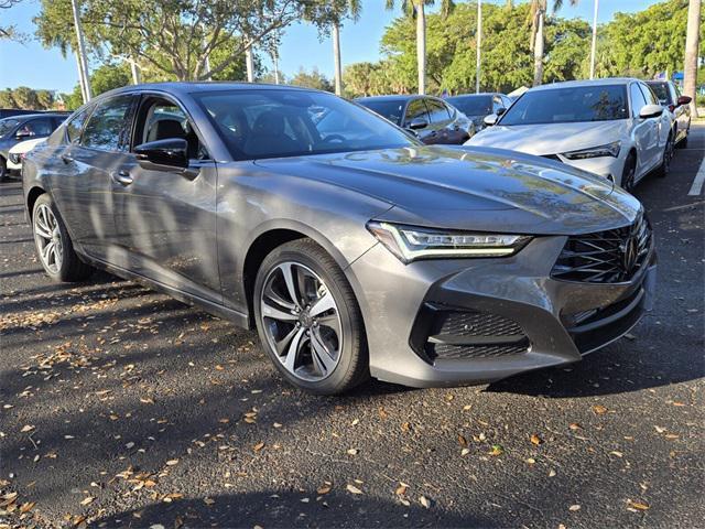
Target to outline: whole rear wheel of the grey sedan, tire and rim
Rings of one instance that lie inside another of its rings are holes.
[[[66,226],[47,194],[34,203],[32,231],[40,262],[54,281],[80,281],[93,273],[94,269],[74,251]]]

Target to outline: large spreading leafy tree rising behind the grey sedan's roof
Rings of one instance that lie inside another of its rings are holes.
[[[307,1],[83,0],[82,19],[95,54],[132,57],[167,78],[203,80],[217,78],[246,50],[299,20]],[[44,45],[66,50],[73,44],[73,24],[64,12],[67,2],[42,0],[36,24]],[[224,47],[228,54],[215,63],[214,50]]]

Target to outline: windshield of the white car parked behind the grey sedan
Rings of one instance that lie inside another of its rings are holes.
[[[507,110],[499,123],[573,123],[628,117],[625,86],[592,85],[527,91]]]

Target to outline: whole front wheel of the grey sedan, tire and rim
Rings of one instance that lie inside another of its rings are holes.
[[[262,346],[282,376],[321,395],[340,393],[369,375],[360,309],[343,270],[312,239],[274,249],[254,284]]]

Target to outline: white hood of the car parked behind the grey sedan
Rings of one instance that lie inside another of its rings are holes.
[[[487,127],[467,145],[496,147],[529,154],[560,154],[611,143],[628,136],[629,121],[519,125]]]

